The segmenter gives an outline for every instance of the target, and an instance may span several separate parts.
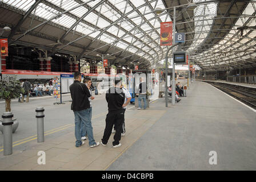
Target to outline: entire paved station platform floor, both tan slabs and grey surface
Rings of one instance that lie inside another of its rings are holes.
[[[69,100],[66,96],[66,100]],[[125,113],[126,135],[122,146],[75,147],[71,102],[53,105],[54,98],[13,102],[20,126],[13,134],[13,154],[0,147],[0,170],[255,170],[255,110],[206,82],[196,81],[175,105],[152,100],[147,110],[129,105]],[[93,102],[94,139],[101,141],[105,129],[105,94]],[[0,104],[3,111],[2,105]],[[26,105],[26,107],[25,107]],[[45,142],[37,143],[35,108],[45,107]],[[0,134],[2,138],[2,134]],[[2,142],[2,141],[1,141]],[[2,143],[0,144],[0,146]],[[39,165],[38,151],[46,164]],[[217,154],[210,164],[209,152]]]

